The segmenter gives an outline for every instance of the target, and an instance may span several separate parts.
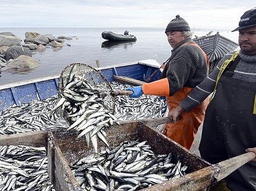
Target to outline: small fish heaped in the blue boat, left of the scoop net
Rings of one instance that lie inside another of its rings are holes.
[[[0,135],[28,133],[39,130],[66,129],[67,124],[58,113],[48,115],[57,102],[57,96],[34,100],[21,106],[13,105],[0,112]]]

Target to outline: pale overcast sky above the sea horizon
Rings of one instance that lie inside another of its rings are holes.
[[[255,0],[1,0],[0,27],[161,27],[176,14],[191,28],[232,29]]]

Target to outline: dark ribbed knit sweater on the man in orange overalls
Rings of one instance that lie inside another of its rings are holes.
[[[171,57],[165,66],[161,78],[168,78],[170,96],[184,87],[196,87],[208,75],[205,56],[195,43],[186,38],[171,50]],[[183,46],[182,46],[183,45]]]

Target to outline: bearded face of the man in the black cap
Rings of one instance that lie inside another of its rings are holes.
[[[245,54],[256,55],[256,26],[239,30],[238,43]]]

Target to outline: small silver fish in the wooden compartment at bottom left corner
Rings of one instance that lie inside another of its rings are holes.
[[[5,145],[0,153],[0,190],[55,190],[45,148]]]

